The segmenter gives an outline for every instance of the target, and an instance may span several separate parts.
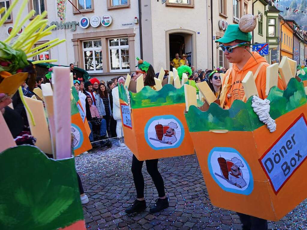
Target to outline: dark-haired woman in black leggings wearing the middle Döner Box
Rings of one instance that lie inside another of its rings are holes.
[[[154,89],[155,73],[150,63],[138,59],[138,65],[136,66],[135,74],[137,77],[143,74],[144,86],[150,86]],[[156,200],[156,204],[150,208],[150,213],[156,213],[169,207],[168,197],[165,196],[165,187],[163,178],[158,170],[159,159],[146,160],[147,172],[150,174],[153,183],[157,189],[159,198]],[[136,189],[137,199],[134,203],[125,210],[126,213],[142,212],[146,209],[146,201],[144,198],[144,177],[142,174],[142,167],[144,161],[139,161],[135,155],[132,156],[131,172],[133,175],[133,181]]]

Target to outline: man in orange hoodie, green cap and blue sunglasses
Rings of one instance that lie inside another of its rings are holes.
[[[221,107],[229,109],[235,100],[247,101],[242,80],[248,71],[252,71],[258,95],[261,99],[266,98],[266,67],[269,64],[258,52],[251,52],[251,33],[244,33],[239,25],[229,25],[222,38],[216,42],[223,43],[220,48],[224,51],[225,58],[233,63],[232,68],[226,71],[222,82],[220,96]],[[278,88],[284,90],[282,79],[278,77]]]

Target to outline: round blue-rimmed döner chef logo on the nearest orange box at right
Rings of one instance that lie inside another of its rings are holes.
[[[254,188],[251,168],[234,148],[213,148],[208,156],[212,178],[225,191],[249,195]]]

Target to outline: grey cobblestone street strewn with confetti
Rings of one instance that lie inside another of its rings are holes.
[[[143,166],[147,209],[127,215],[136,199],[130,171],[132,153],[126,147],[91,151],[76,158],[89,203],[83,205],[87,229],[242,229],[235,212],[211,204],[196,155],[160,159],[159,171],[169,197],[169,208],[150,214],[157,191]],[[307,200],[269,229],[307,229]]]

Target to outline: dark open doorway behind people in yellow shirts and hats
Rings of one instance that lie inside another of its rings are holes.
[[[187,55],[189,66],[193,65],[192,49],[193,40],[192,34],[189,33],[171,33],[169,34],[169,62],[175,58],[175,54],[178,53],[180,58],[183,54]],[[172,70],[172,66],[169,66]]]

